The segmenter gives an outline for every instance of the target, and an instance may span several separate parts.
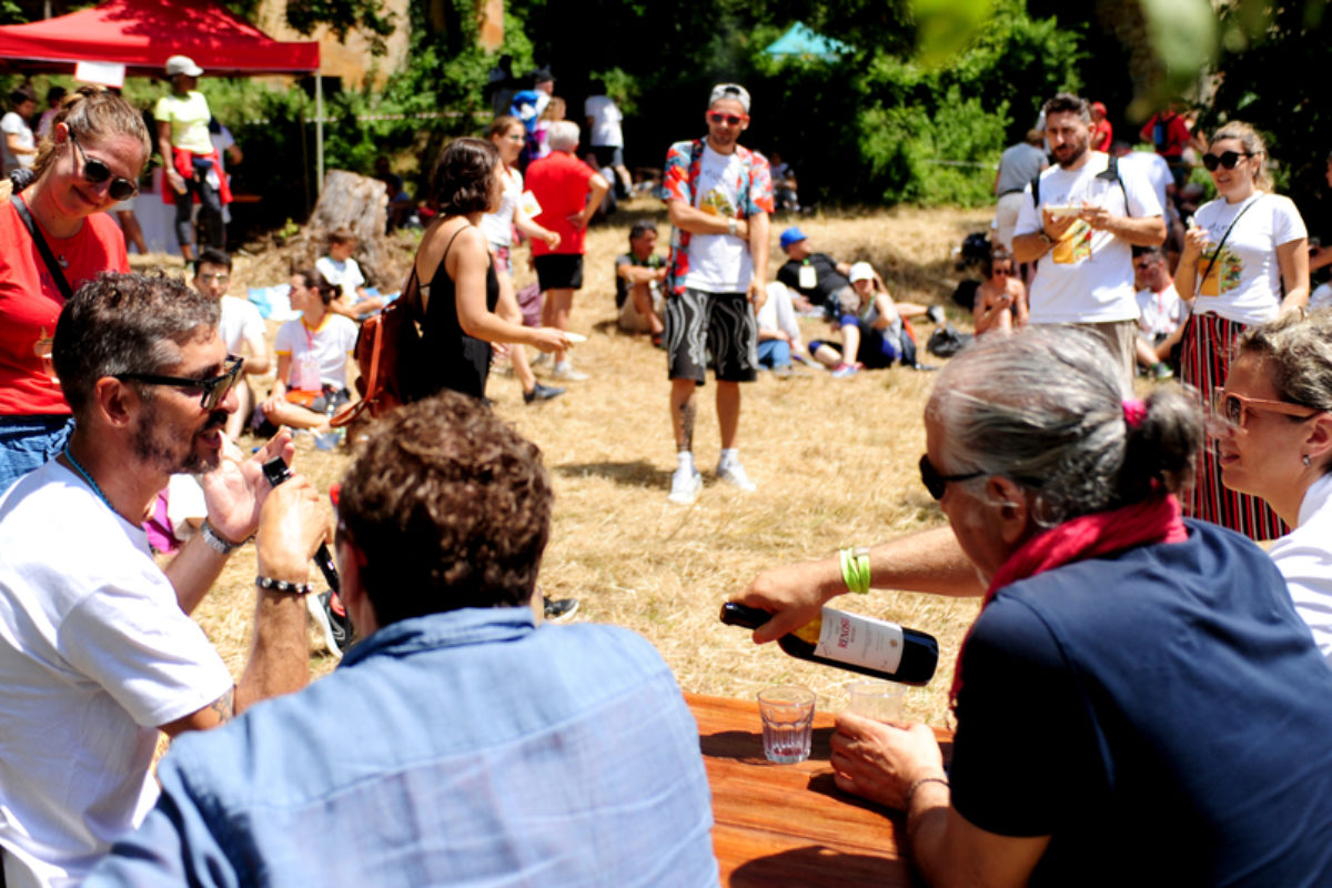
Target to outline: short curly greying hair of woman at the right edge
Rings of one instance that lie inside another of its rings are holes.
[[[1235,357],[1247,354],[1268,361],[1281,401],[1332,410],[1332,309],[1307,317],[1287,312],[1244,330],[1235,341]],[[1332,461],[1324,470],[1332,473]]]

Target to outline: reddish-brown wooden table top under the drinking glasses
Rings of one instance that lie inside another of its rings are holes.
[[[762,888],[915,885],[899,851],[900,812],[842,792],[829,764],[832,715],[814,715],[814,747],[799,764],[763,758],[754,700],[686,694],[713,787],[713,848],[723,885]],[[935,730],[944,755],[951,734]]]

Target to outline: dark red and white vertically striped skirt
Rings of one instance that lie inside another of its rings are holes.
[[[1231,346],[1243,332],[1243,324],[1216,314],[1195,314],[1189,318],[1180,353],[1180,375],[1185,385],[1197,389],[1204,405],[1209,406],[1212,391],[1225,385]],[[1184,514],[1229,527],[1249,539],[1276,539],[1289,533],[1285,522],[1263,499],[1225,489],[1217,447],[1211,438],[1203,442],[1197,481],[1181,501]]]

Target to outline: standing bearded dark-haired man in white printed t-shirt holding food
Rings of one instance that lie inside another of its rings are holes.
[[[1136,169],[1112,169],[1090,150],[1091,108],[1071,93],[1046,103],[1055,165],[1027,186],[1012,238],[1019,262],[1040,261],[1028,298],[1031,324],[1076,324],[1096,333],[1131,379],[1136,354],[1135,246],[1166,241],[1160,201]],[[1038,212],[1039,210],[1039,212]]]

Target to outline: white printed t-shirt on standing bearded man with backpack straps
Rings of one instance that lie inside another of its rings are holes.
[[[1080,169],[1051,166],[1040,174],[1042,206],[1067,206],[1083,201],[1104,206],[1112,216],[1148,218],[1160,216],[1151,184],[1135,166],[1119,168],[1124,188],[1114,178],[1102,178],[1108,157],[1090,152]],[[1040,230],[1040,213],[1032,204],[1031,185],[1018,212],[1014,236]],[[1124,197],[1128,197],[1127,208]],[[1127,210],[1127,212],[1126,212]],[[1128,241],[1110,232],[1094,230],[1078,220],[1052,250],[1040,257],[1036,280],[1028,297],[1032,324],[1104,324],[1136,321],[1134,298],[1134,253]]]

